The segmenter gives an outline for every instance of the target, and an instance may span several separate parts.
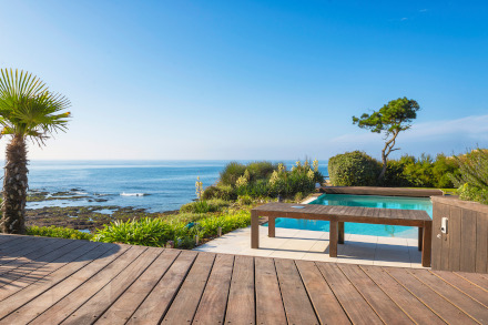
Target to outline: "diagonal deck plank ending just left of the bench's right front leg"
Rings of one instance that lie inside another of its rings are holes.
[[[444,299],[440,295],[418,281],[418,278],[408,273],[405,268],[384,267],[384,270],[446,323],[476,324],[472,318],[462,313],[462,311],[457,308],[448,301]],[[423,271],[427,272],[426,270]]]

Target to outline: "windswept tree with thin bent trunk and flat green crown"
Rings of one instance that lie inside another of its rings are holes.
[[[362,129],[368,129],[373,133],[385,134],[385,146],[382,150],[382,170],[378,174],[379,182],[386,174],[388,155],[399,150],[395,148],[398,134],[411,128],[413,120],[417,119],[418,110],[420,110],[420,105],[415,100],[399,98],[389,101],[370,114],[364,113],[360,118],[353,116],[353,124],[357,124]]]

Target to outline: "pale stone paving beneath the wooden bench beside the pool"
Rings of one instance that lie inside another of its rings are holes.
[[[251,248],[251,227],[236,230],[210,241],[195,251],[237,255],[267,256],[321,262],[354,263],[378,266],[421,266],[421,252],[417,240],[345,235],[338,245],[338,256],[328,256],[328,232],[276,227],[276,237],[267,236],[267,227],[260,228],[260,248]]]

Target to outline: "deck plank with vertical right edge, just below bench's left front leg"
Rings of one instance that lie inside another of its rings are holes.
[[[225,324],[255,324],[254,258],[236,255]]]

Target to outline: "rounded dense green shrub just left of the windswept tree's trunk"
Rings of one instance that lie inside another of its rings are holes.
[[[328,175],[334,186],[374,186],[380,164],[362,151],[337,154],[328,161]]]

